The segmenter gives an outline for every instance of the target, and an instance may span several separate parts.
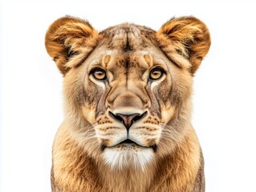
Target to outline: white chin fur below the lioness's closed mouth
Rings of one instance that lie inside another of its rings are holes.
[[[124,168],[133,168],[144,171],[145,166],[152,161],[154,153],[150,148],[132,149],[126,146],[122,149],[118,147],[106,148],[103,158],[111,170],[122,170]]]

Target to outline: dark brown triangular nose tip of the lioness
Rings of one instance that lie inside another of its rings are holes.
[[[117,121],[123,122],[127,130],[132,126],[133,122],[140,120],[140,118],[144,118],[146,113],[147,112],[144,112],[144,114],[113,114],[109,111],[109,115]]]

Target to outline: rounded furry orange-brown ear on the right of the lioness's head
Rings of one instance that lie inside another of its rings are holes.
[[[194,17],[169,20],[156,32],[156,38],[170,60],[188,68],[191,74],[196,72],[211,44],[209,30]]]

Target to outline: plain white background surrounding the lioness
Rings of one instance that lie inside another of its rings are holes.
[[[63,120],[62,76],[44,35],[56,18],[97,30],[134,22],[158,30],[194,15],[212,46],[194,78],[193,126],[205,155],[206,191],[256,191],[255,1],[14,1],[0,4],[0,191],[51,191],[51,144]]]

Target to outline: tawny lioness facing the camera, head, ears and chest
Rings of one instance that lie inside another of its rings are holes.
[[[97,32],[67,16],[51,24],[45,45],[64,76],[52,191],[205,191],[190,122],[193,74],[210,46],[203,22]]]

